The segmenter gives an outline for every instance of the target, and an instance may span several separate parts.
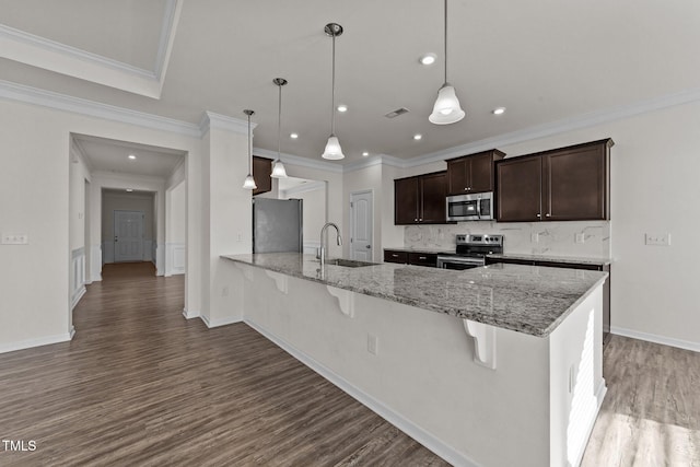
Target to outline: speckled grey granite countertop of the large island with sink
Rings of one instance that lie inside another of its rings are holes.
[[[326,265],[322,276],[313,255],[222,258],[539,337],[549,336],[607,277],[600,271],[523,265],[455,271],[389,262],[360,268]]]

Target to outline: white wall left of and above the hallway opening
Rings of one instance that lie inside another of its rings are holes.
[[[70,339],[71,132],[180,149],[195,157],[201,145],[182,132],[0,100],[0,141],[8,155],[0,171],[0,232],[30,236],[28,245],[0,245],[0,351]],[[199,208],[198,194],[188,201]],[[92,215],[100,205],[91,203],[91,222],[100,222]]]

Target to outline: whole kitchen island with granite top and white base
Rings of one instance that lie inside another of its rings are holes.
[[[246,323],[455,465],[576,465],[605,395],[605,272],[225,256]]]

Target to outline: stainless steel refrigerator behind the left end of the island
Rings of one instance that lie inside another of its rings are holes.
[[[253,199],[253,253],[303,253],[303,200]]]

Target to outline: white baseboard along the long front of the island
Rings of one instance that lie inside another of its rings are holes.
[[[362,392],[360,388],[345,380],[342,376],[336,374],[332,370],[323,365],[318,361],[313,358],[306,355],[301,350],[296,349],[289,342],[283,339],[278,338],[277,336],[268,332],[261,326],[258,326],[255,322],[249,319],[243,320],[245,324],[250,326],[256,331],[260,332],[267,339],[279,346],[287,353],[312,369],[314,372],[318,373],[324,378],[328,380],[330,383],[336,385],[338,388],[353,397],[360,404],[372,410],[374,413],[382,417],[384,420],[392,423],[394,427],[401,430],[404,433],[418,441],[420,444],[425,446],[428,450],[435,453],[438,456],[442,457],[444,460],[448,462],[454,466],[464,466],[464,467],[478,467],[478,464],[468,457],[464,456],[462,453],[454,450],[452,446],[443,443],[438,437],[433,436],[422,428],[412,423],[410,420],[407,420],[401,415],[395,412],[390,408],[386,407],[383,402],[370,396],[369,394]]]

